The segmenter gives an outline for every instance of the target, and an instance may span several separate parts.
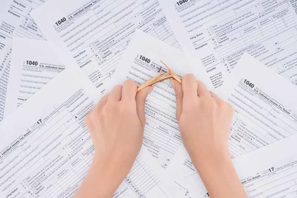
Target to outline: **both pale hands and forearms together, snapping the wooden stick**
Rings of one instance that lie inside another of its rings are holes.
[[[172,80],[176,118],[187,152],[211,198],[247,198],[228,151],[233,107],[208,91],[192,74]],[[129,173],[140,151],[144,104],[152,87],[132,80],[105,95],[86,116],[95,155],[74,198],[109,198]]]

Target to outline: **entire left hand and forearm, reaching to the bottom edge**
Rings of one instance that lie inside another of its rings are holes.
[[[144,104],[151,90],[152,87],[146,87],[136,93],[137,85],[126,80],[123,86],[117,85],[103,96],[86,115],[95,155],[75,198],[112,197],[129,173],[142,145]]]

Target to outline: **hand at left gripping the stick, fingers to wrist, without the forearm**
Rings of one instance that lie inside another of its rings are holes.
[[[126,80],[123,86],[117,85],[103,96],[85,118],[95,145],[94,161],[104,163],[123,179],[142,145],[144,104],[151,90],[146,87],[137,92],[136,83]]]

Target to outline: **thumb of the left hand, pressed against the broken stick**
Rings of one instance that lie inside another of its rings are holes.
[[[153,91],[152,86],[145,87],[139,90],[135,96],[137,115],[142,126],[144,126],[144,124],[146,123],[146,117],[144,115],[144,104],[146,102],[146,97],[151,93],[151,91]]]

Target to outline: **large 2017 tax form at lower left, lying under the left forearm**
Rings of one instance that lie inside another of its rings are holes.
[[[0,197],[72,197],[93,160],[84,117],[99,98],[80,69],[68,66],[8,115],[0,123],[6,134],[0,140]],[[113,197],[173,197],[160,169],[142,149]]]

